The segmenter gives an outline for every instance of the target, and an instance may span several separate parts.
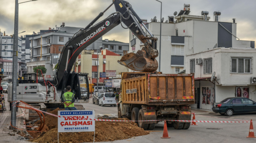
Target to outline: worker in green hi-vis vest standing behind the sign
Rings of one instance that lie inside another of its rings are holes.
[[[67,86],[67,91],[61,98],[61,101],[64,102],[65,110],[77,110],[74,106],[75,94],[71,92],[71,86]]]

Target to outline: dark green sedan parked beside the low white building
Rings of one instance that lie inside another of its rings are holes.
[[[256,102],[245,97],[229,97],[213,103],[212,111],[227,116],[234,113],[253,113],[256,112]]]

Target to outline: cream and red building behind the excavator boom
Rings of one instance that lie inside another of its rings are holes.
[[[101,50],[97,55],[94,50],[83,50],[82,53],[77,58],[78,67],[75,69],[77,73],[88,73],[88,77],[92,80],[92,83],[97,83],[97,65],[99,73],[106,72],[106,70],[116,70],[117,75],[121,72],[128,72],[128,68],[119,64],[117,61],[122,58],[117,53],[110,50]],[[99,56],[99,62],[97,62],[97,57]],[[100,81],[98,81],[100,83]],[[102,84],[102,83],[101,83]]]

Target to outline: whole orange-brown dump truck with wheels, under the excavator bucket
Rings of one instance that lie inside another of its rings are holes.
[[[194,74],[122,73],[118,117],[130,118],[144,130],[160,122],[148,120],[191,120],[194,84]],[[168,121],[167,126],[188,129],[190,123]]]

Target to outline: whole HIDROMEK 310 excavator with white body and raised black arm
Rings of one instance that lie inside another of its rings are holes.
[[[116,12],[94,25],[112,5],[115,6]],[[73,38],[63,47],[57,64],[57,72],[53,80],[45,80],[44,78],[39,80],[38,73],[24,74],[24,80],[19,80],[19,85],[17,86],[17,100],[35,104],[34,106],[45,111],[50,111],[57,107],[64,108],[60,99],[69,85],[73,93],[75,93],[75,103],[88,103],[88,74],[76,73],[74,71],[74,63],[82,50],[119,24],[125,29],[130,29],[144,43],[145,47],[142,50],[138,50],[135,54],[129,53],[124,55],[118,62],[134,71],[150,73],[156,71],[158,68],[158,62],[155,59],[158,56],[156,48],[157,38],[149,32],[129,2],[112,0],[112,3],[103,12],[100,12],[85,28],[75,33]],[[142,27],[146,32],[144,32]],[[38,72],[40,73],[41,71],[38,70]],[[80,87],[79,76],[83,76],[86,80],[86,88]],[[9,84],[8,86],[8,89],[11,91],[12,85]],[[8,102],[10,102],[11,96],[11,92],[8,92]],[[44,103],[45,108],[41,108],[39,103]]]

